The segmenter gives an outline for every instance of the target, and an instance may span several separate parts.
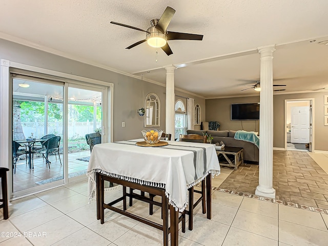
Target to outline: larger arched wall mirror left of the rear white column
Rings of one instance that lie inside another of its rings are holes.
[[[159,127],[160,101],[155,93],[145,98],[145,127]]]

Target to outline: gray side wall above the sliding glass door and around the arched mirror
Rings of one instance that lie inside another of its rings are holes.
[[[110,58],[111,57],[108,57],[108,59]],[[137,114],[137,109],[144,107],[144,100],[148,93],[156,93],[160,99],[161,105],[160,127],[158,129],[165,130],[165,87],[99,67],[80,63],[79,61],[50,54],[27,46],[12,43],[4,39],[0,39],[0,59],[8,59],[20,64],[113,83],[114,141],[142,137],[140,131],[144,129],[144,116],[139,116]],[[165,72],[165,69],[163,69],[163,73]],[[186,97],[194,97],[179,91],[176,91],[175,93]],[[198,103],[201,106],[202,117],[204,118],[205,100],[197,97],[194,98],[195,104]],[[122,121],[126,122],[125,128],[122,128]]]

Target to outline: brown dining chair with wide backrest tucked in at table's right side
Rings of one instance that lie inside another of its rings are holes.
[[[183,135],[180,134],[180,141],[187,141],[187,142],[201,142],[203,144],[206,144],[207,142],[207,136],[206,135],[198,135],[198,134],[187,134]],[[194,187],[191,187],[188,189],[189,193],[189,210],[185,210],[186,214],[189,215],[189,221],[188,221],[188,229],[190,231],[193,230],[193,217],[194,217],[194,208],[198,205],[198,203],[202,202],[202,213],[206,214],[206,187],[205,187],[205,179],[201,180],[201,190],[195,190]],[[211,189],[211,188],[209,188]],[[194,192],[201,194],[200,197],[197,199],[196,202],[194,202]]]

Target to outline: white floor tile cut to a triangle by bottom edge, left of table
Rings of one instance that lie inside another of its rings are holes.
[[[83,228],[64,239],[53,244],[53,246],[67,246],[67,245],[78,245],[78,246],[90,246],[90,245],[108,245],[111,242],[101,237],[97,233],[91,231],[88,228]]]

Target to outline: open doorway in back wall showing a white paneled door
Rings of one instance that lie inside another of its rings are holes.
[[[312,151],[312,101],[312,98],[285,100],[286,150]]]

